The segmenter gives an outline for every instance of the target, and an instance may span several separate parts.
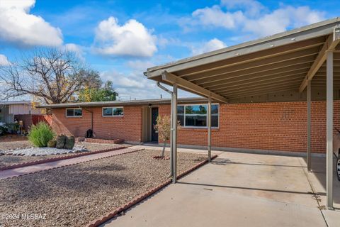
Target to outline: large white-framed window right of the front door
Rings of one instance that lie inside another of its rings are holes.
[[[219,105],[211,105],[211,127],[218,128]],[[208,106],[201,105],[181,105],[177,106],[177,119],[183,127],[202,127],[208,125]]]

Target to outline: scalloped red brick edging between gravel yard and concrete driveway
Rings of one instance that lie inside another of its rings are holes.
[[[211,157],[211,159],[213,160],[216,157],[217,157],[217,155],[213,155]],[[201,167],[202,165],[205,165],[207,162],[208,162],[208,160],[203,160],[202,162],[199,162],[198,164],[196,164],[193,167],[191,167],[190,169],[188,169],[188,170],[186,170],[184,172],[181,172],[181,174],[178,176],[178,179],[188,175],[190,172],[193,172],[193,170],[196,170],[199,167]],[[128,203],[124,204],[123,206],[120,206],[117,209],[109,212],[108,214],[101,216],[100,218],[98,218],[97,220],[92,221],[91,223],[89,223],[86,226],[87,227],[97,227],[97,226],[100,226],[101,224],[103,224],[106,221],[114,218],[115,216],[117,216],[118,214],[122,213],[123,211],[126,211],[130,207],[135,206],[136,204],[140,203],[140,201],[143,201],[144,199],[147,199],[147,197],[149,197],[152,194],[158,192],[160,189],[166,187],[169,184],[171,184],[171,179],[166,179],[166,181],[162,182],[158,186],[156,186],[156,187],[154,187],[152,189],[149,189],[149,191],[145,192],[144,194],[140,194],[139,196],[135,197],[135,199],[132,199]]]

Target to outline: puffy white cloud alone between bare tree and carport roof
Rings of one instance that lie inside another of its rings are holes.
[[[132,19],[120,26],[111,16],[96,28],[94,50],[101,55],[151,57],[157,51],[155,42],[142,23]]]

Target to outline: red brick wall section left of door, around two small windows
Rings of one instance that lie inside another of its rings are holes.
[[[124,116],[103,117],[102,108],[86,108],[94,112],[94,133],[96,138],[142,140],[142,106],[125,106]],[[65,109],[53,109],[52,128],[59,134],[84,137],[91,128],[91,113],[83,109],[81,118],[67,118]]]

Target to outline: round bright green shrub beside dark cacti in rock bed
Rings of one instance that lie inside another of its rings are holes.
[[[30,140],[36,147],[46,147],[48,141],[55,137],[55,133],[52,131],[47,123],[39,122],[37,125],[30,128],[28,133],[28,140]]]

